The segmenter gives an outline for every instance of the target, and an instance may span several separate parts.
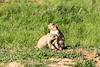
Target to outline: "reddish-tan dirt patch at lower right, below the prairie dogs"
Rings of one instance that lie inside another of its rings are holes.
[[[96,67],[100,67],[100,58],[97,59],[98,54],[97,51],[94,50],[86,50],[84,48],[79,49],[70,49],[63,50],[65,53],[74,53],[74,54],[82,54],[84,59],[96,61]],[[73,67],[77,62],[81,62],[82,59],[68,59],[68,58],[50,58],[49,61],[52,63],[48,64],[47,67]]]

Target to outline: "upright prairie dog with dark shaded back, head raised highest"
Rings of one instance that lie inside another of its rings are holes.
[[[48,28],[50,30],[50,34],[55,34],[58,36],[58,44],[63,49],[64,48],[64,35],[62,32],[58,29],[58,26],[54,23],[50,23],[48,25]]]

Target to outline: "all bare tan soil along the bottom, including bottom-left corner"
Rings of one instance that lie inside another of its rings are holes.
[[[66,53],[82,54],[84,59],[95,62],[96,67],[100,67],[100,56],[96,50],[86,50],[84,48],[63,50]],[[69,59],[69,58],[49,58],[46,60],[46,67],[74,67],[77,62],[83,59]],[[24,64],[18,62],[0,63],[1,67],[24,67]]]

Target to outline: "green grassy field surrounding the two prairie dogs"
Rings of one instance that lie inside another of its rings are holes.
[[[100,49],[100,5],[91,0],[15,0],[0,3],[0,63],[18,61],[25,67],[45,67],[44,60],[81,58],[76,67],[95,67],[94,61],[69,49]],[[64,51],[36,50],[38,39],[54,22],[65,36]],[[2,67],[2,66],[1,66]]]

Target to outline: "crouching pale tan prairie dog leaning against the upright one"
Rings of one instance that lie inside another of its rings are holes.
[[[57,37],[55,35],[52,35],[52,34],[48,33],[47,35],[44,35],[39,39],[36,47],[39,48],[39,49],[47,47],[47,46],[49,48],[51,48],[50,47],[51,46],[51,41],[55,40],[55,39],[57,39]]]

